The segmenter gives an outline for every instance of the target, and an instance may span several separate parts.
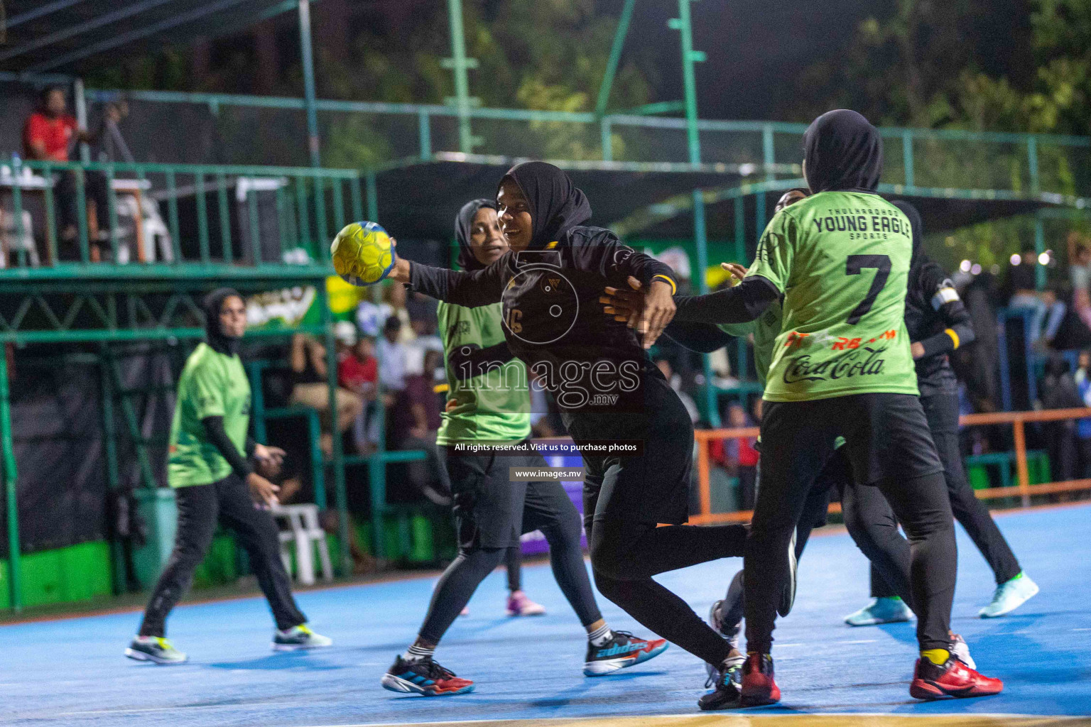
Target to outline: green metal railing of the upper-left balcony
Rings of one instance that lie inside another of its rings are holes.
[[[12,157],[4,189],[10,190],[15,239],[2,242],[13,269],[56,268],[93,262],[201,264],[203,266],[283,265],[285,253],[303,250],[315,264],[328,264],[328,241],[351,219],[363,216],[359,172],[305,167],[211,166],[127,162],[25,161]],[[95,175],[97,179],[92,178]],[[89,189],[105,187],[100,215]],[[74,215],[65,216],[60,185],[74,189]],[[34,204],[33,197],[40,196]],[[119,198],[129,195],[127,215]],[[261,203],[260,196],[266,195]],[[166,235],[145,239],[145,214],[134,209],[144,197],[158,203]],[[233,214],[232,214],[233,208]],[[95,214],[92,210],[95,209]],[[32,213],[35,246],[45,252],[33,265],[34,250],[23,243],[28,231],[23,211]],[[121,218],[127,218],[122,225]],[[62,219],[74,220],[61,229]],[[105,219],[99,219],[105,217]],[[271,227],[272,226],[272,229]],[[97,229],[96,229],[97,228]],[[274,244],[268,243],[273,239]],[[169,239],[169,245],[165,241]],[[263,240],[265,244],[263,244]],[[38,244],[41,241],[43,244]],[[212,274],[213,270],[209,270]],[[129,269],[122,276],[139,277]],[[32,276],[33,277],[33,276]],[[56,277],[43,271],[40,277]]]

